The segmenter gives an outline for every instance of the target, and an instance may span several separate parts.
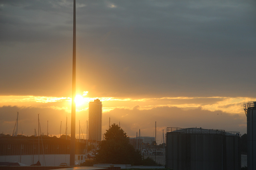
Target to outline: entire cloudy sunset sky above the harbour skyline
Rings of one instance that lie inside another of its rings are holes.
[[[162,143],[166,127],[246,133],[256,101],[253,0],[76,0],[76,136],[88,102]],[[0,132],[70,133],[72,0],[0,0]]]

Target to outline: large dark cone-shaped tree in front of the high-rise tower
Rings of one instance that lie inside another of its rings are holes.
[[[104,134],[104,141],[96,155],[96,162],[141,165],[142,156],[129,143],[126,133],[115,123]]]

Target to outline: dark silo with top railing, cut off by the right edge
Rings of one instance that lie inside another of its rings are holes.
[[[256,169],[256,102],[244,104],[247,116],[247,168]]]

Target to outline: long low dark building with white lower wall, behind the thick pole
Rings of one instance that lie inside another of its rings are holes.
[[[85,162],[86,143],[76,142],[76,165]],[[57,137],[0,137],[0,162],[44,166],[70,163],[70,140]]]

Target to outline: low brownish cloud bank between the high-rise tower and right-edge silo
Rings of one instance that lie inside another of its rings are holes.
[[[143,136],[154,137],[154,123],[157,123],[158,139],[166,127],[202,127],[204,129],[223,129],[246,133],[246,115],[230,114],[222,111],[209,111],[201,108],[184,110],[178,107],[154,107],[152,109],[114,109],[104,113],[104,127],[107,127],[109,115],[111,123],[118,124],[128,135],[136,136],[136,131]]]

